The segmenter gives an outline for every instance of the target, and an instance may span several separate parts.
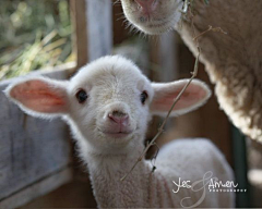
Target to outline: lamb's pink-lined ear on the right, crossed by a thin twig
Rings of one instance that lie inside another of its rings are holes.
[[[152,83],[155,91],[151,104],[152,113],[162,116],[166,115],[170,110],[174,100],[188,82],[189,79],[180,79],[163,84]],[[187,90],[182,94],[170,115],[175,116],[195,110],[203,106],[210,96],[210,88],[203,82],[193,79]]]

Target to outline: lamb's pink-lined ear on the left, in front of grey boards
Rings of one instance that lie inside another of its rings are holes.
[[[69,111],[66,83],[46,77],[25,78],[11,84],[4,93],[26,113],[52,118]]]

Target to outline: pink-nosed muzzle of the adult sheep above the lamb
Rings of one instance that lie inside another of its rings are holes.
[[[181,17],[182,0],[121,0],[126,17],[145,34],[174,29]]]

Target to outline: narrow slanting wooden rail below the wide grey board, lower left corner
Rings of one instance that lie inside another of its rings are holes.
[[[0,202],[0,208],[11,209],[23,206],[36,198],[38,196],[46,195],[47,193],[58,188],[59,186],[70,182],[72,180],[72,170],[69,168],[62,169],[57,173],[38,181],[32,186],[26,187],[25,189],[15,193],[9,198],[5,198]]]

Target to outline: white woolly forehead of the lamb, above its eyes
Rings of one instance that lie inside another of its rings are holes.
[[[73,86],[88,85],[92,87],[111,82],[114,78],[127,85],[150,85],[150,81],[132,61],[119,56],[108,56],[91,62],[72,77],[71,83]]]

